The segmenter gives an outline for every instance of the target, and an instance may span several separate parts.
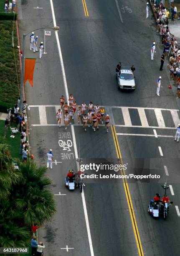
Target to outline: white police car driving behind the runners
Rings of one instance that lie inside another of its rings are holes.
[[[130,70],[130,67],[122,67],[120,73],[117,74],[118,88],[119,89],[127,89],[127,90],[135,90],[135,82],[134,75]]]

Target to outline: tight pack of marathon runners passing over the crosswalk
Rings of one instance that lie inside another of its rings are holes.
[[[77,115],[78,123],[81,123],[81,120],[83,121],[83,128],[84,131],[86,131],[87,125],[90,127],[92,126],[93,130],[96,131],[99,130],[99,123],[104,123],[106,130],[108,131],[109,128],[109,115],[106,115],[105,117],[105,110],[103,107],[100,107],[99,104],[96,104],[96,106],[93,105],[93,102],[89,102],[89,105],[86,105],[86,102],[83,102],[80,106],[77,105],[76,100],[74,100],[74,96],[71,94],[69,99],[69,105],[67,102],[65,102],[64,96],[62,95],[60,97],[60,104],[61,109],[58,109],[58,112],[56,113],[57,122],[59,127],[61,127],[61,120],[62,117],[64,119],[65,129],[67,129],[67,125],[72,123],[72,120],[74,119],[74,114]],[[88,110],[86,114],[86,110]]]

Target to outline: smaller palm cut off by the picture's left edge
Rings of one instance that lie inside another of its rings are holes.
[[[15,170],[7,144],[0,144],[0,199],[10,195],[10,188],[20,180],[21,173]]]

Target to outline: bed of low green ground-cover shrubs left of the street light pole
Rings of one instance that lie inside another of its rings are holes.
[[[3,102],[15,104],[19,97],[18,83],[20,83],[20,62],[18,54],[18,38],[16,34],[16,26],[14,23],[14,51],[12,47],[12,31],[13,21],[0,21],[0,108]],[[18,77],[15,69],[15,59],[17,65]],[[4,105],[7,112],[7,105]]]

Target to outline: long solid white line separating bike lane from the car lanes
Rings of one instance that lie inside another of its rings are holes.
[[[55,19],[54,8],[53,8],[53,0],[50,0],[50,3],[51,3],[52,15],[53,15],[53,23],[54,23],[54,26],[56,26],[56,19]],[[59,57],[60,57],[60,61],[61,61],[61,69],[62,69],[62,74],[63,74],[63,82],[64,82],[64,88],[65,88],[65,92],[66,92],[66,99],[68,100],[68,98],[69,98],[68,86],[67,86],[67,82],[66,82],[66,74],[65,74],[65,70],[64,70],[63,57],[62,57],[60,41],[59,41],[57,32],[56,32],[56,41],[57,41],[58,52],[59,52]],[[73,143],[74,143],[74,153],[75,153],[76,158],[78,158],[78,151],[77,151],[77,146],[76,146],[76,137],[75,137],[74,126],[73,125],[71,125],[71,132],[72,132]],[[78,162],[76,162],[76,163],[78,165]],[[82,197],[83,208],[84,208],[84,216],[85,216],[85,221],[86,221],[86,228],[87,228],[87,233],[88,233],[90,252],[91,252],[91,256],[94,256],[94,250],[93,250],[93,246],[92,246],[92,239],[91,239],[91,232],[90,232],[90,227],[89,227],[89,219],[88,219],[88,214],[87,214],[84,190],[81,193],[81,197]]]

